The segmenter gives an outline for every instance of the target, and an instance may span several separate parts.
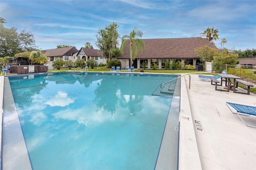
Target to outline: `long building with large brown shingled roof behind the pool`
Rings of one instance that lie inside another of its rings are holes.
[[[147,62],[146,68],[150,69],[153,63],[158,69],[164,68],[163,61],[180,61],[182,64],[196,65],[200,58],[194,50],[198,47],[208,45],[218,49],[214,44],[205,38],[164,38],[164,39],[142,39],[145,43],[144,51],[139,51],[133,61],[134,68],[142,68],[142,63]],[[122,68],[130,66],[130,43],[127,42],[124,54],[117,57],[122,63]]]

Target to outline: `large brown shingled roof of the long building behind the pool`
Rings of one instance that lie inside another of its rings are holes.
[[[138,52],[136,58],[198,58],[194,50],[197,47],[208,45],[217,49],[215,45],[205,38],[164,38],[164,39],[142,39],[145,43],[143,52]],[[124,48],[124,54],[118,59],[130,58],[130,41],[128,40]]]

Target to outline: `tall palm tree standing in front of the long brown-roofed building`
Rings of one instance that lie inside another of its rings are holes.
[[[122,44],[120,47],[120,51],[123,54],[124,53],[124,47],[127,43],[128,40],[130,40],[130,66],[132,66],[132,61],[136,58],[136,55],[139,51],[139,49],[141,51],[144,50],[145,47],[145,43],[142,39],[143,36],[143,32],[141,32],[140,30],[138,30],[136,27],[134,28],[134,30],[132,30],[132,32],[130,32],[130,35],[124,35],[122,37]]]

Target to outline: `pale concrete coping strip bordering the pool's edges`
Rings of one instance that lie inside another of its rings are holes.
[[[95,71],[96,72],[96,71]],[[98,73],[110,73],[110,72],[98,72]],[[113,72],[119,73],[119,72]],[[127,72],[126,72],[127,73]],[[181,75],[181,74],[169,74],[169,73],[132,73],[132,74],[162,74],[162,75]],[[2,108],[2,114],[0,116],[1,121],[1,142],[2,142],[2,116],[3,116],[3,87],[4,77],[0,76],[0,107]],[[194,125],[192,122],[190,104],[188,99],[187,87],[184,77],[181,77],[180,84],[180,127],[179,127],[179,150],[178,150],[178,168],[177,169],[202,169],[199,158],[198,147],[196,144],[196,136],[194,131]],[[182,118],[183,117],[183,118]],[[186,119],[186,118],[187,119]],[[184,119],[185,118],[185,119]],[[2,143],[1,145],[2,146]],[[2,148],[0,150],[2,160]],[[168,158],[168,154],[165,157]],[[156,169],[166,169],[166,162],[164,160],[158,160],[156,163],[158,166]],[[1,162],[2,167],[2,162]],[[1,168],[2,169],[2,168]]]

